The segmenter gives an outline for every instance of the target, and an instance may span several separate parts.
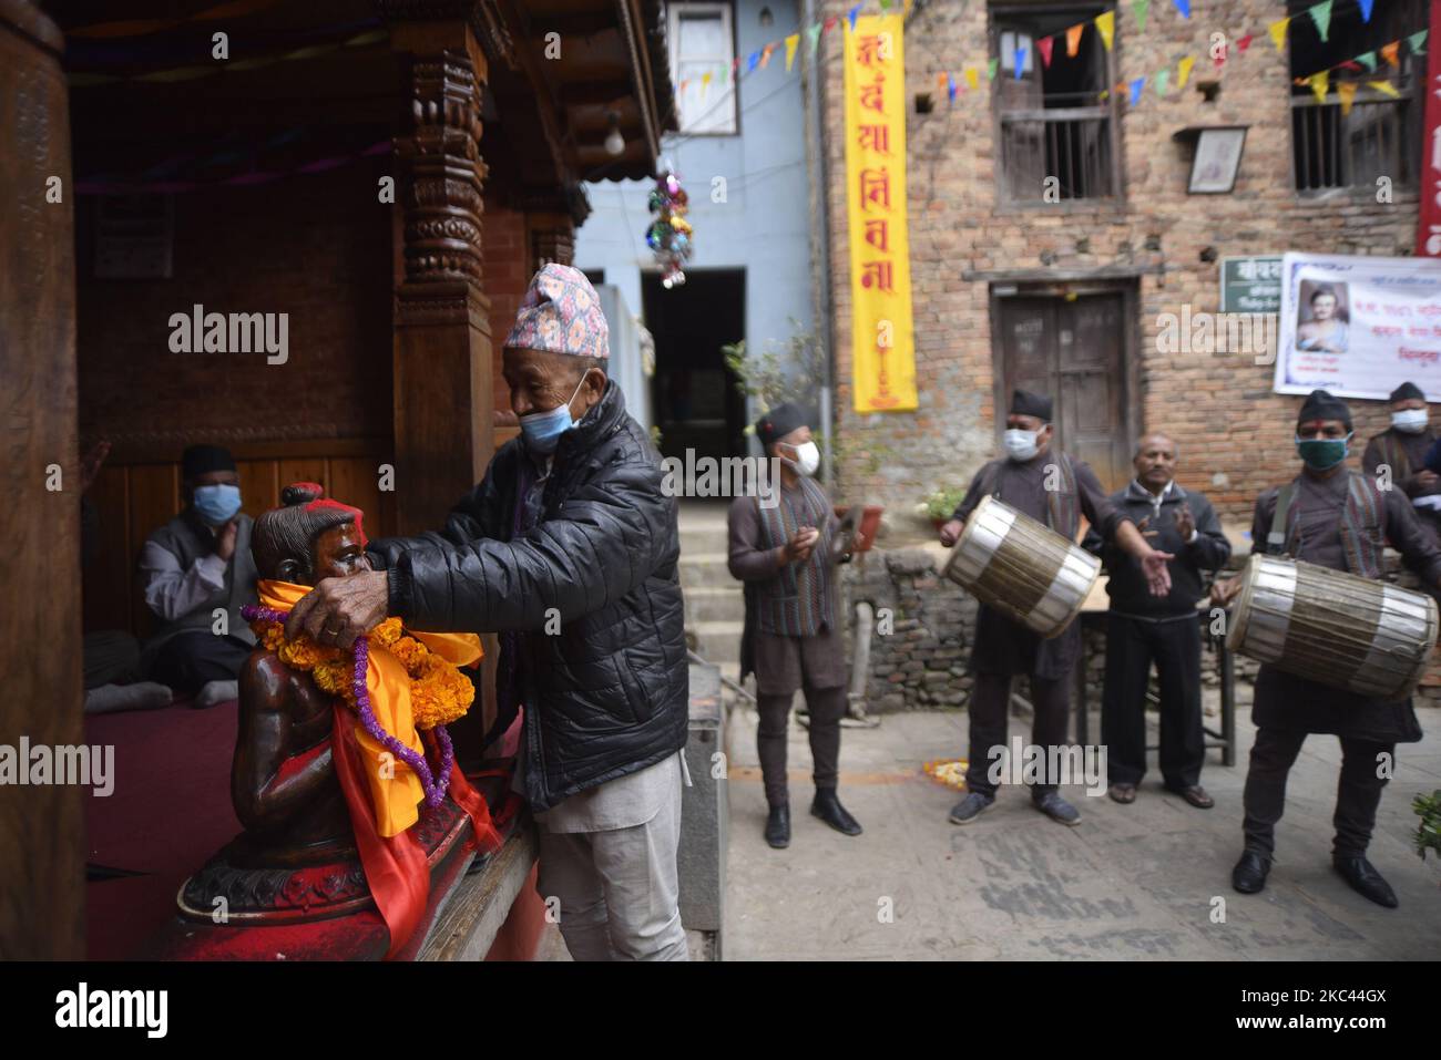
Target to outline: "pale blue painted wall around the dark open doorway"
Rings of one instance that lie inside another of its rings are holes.
[[[774,22],[761,26],[761,9]],[[795,3],[738,0],[732,6],[736,53],[744,75],[746,56],[800,27]],[[806,48],[806,37],[801,37]],[[661,153],[690,199],[695,226],[692,269],[745,269],[745,341],[748,350],[784,340],[795,318],[811,327],[810,216],[807,209],[806,127],[801,102],[801,56],[785,71],[784,45],[765,69],[744,75],[738,86],[738,135],[670,135]],[[723,177],[726,200],[712,202],[712,181]],[[637,314],[643,311],[640,274],[654,269],[646,246],[651,183],[601,181],[586,186],[592,213],[576,232],[575,264],[605,269],[605,282],[620,288]],[[661,292],[664,294],[664,292]],[[729,341],[720,337],[719,341]]]

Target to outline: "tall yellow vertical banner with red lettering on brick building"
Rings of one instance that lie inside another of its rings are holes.
[[[915,409],[899,12],[846,33],[846,215],[856,412]]]

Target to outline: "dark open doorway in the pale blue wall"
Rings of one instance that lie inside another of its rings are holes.
[[[646,272],[641,311],[656,340],[651,408],[661,455],[742,455],[745,396],[720,347],[745,337],[745,269],[686,269],[686,282],[670,289],[659,272]]]

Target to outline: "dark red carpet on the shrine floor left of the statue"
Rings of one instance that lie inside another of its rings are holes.
[[[236,704],[173,706],[85,719],[85,742],[114,745],[115,788],[85,796],[86,860],[144,876],[85,887],[88,955],[130,956],[174,913],[176,891],[241,831],[231,808]]]

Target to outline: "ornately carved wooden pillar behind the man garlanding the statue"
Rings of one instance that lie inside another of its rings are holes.
[[[490,462],[491,330],[481,281],[480,92],[486,58],[465,4],[382,3],[408,92],[395,141],[403,277],[395,288],[396,521],[440,529]]]

